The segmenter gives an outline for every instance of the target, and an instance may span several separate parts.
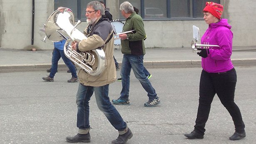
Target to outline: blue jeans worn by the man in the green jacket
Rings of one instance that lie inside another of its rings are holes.
[[[130,73],[131,69],[134,72],[135,77],[142,84],[144,90],[147,91],[147,96],[149,100],[153,100],[157,98],[157,93],[155,89],[152,87],[149,79],[144,73],[143,66],[143,57],[144,55],[136,56],[132,54],[124,54],[121,68],[121,76],[122,76],[122,91],[120,99],[127,100],[129,98],[129,87],[130,87]]]

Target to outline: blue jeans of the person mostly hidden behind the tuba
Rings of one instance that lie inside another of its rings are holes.
[[[71,63],[70,59],[68,59],[67,56],[65,56],[63,50],[56,49],[56,48],[54,49],[52,54],[52,68],[49,76],[51,78],[55,76],[55,73],[57,72],[57,69],[58,69],[58,61],[60,60],[60,57],[63,59],[67,67],[70,69],[72,77],[77,78],[77,72],[75,70],[75,66],[73,65],[73,63]]]

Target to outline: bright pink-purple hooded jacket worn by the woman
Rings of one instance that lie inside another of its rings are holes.
[[[219,45],[210,47],[208,56],[202,58],[202,68],[208,73],[226,72],[234,68],[231,62],[233,33],[228,20],[221,19],[218,23],[209,24],[201,38],[201,44]]]

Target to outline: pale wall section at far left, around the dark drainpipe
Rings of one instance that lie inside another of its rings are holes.
[[[34,45],[31,45],[32,0],[1,1],[1,47],[24,50],[32,48],[40,50],[48,47],[52,49],[53,44],[45,44],[41,41],[45,34],[38,29],[43,28],[43,24],[53,12],[53,4],[53,0],[35,0]]]

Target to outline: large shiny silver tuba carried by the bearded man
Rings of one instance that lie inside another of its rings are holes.
[[[67,7],[55,10],[45,24],[46,36],[42,41],[45,41],[46,38],[53,42],[66,39],[67,41],[64,46],[65,56],[88,74],[98,76],[104,71],[106,66],[105,53],[100,47],[80,53],[72,49],[72,46],[69,44],[71,40],[80,42],[83,39],[87,39],[85,34],[76,28],[81,21],[78,20],[77,24],[73,26],[74,23],[75,16],[72,10]]]

